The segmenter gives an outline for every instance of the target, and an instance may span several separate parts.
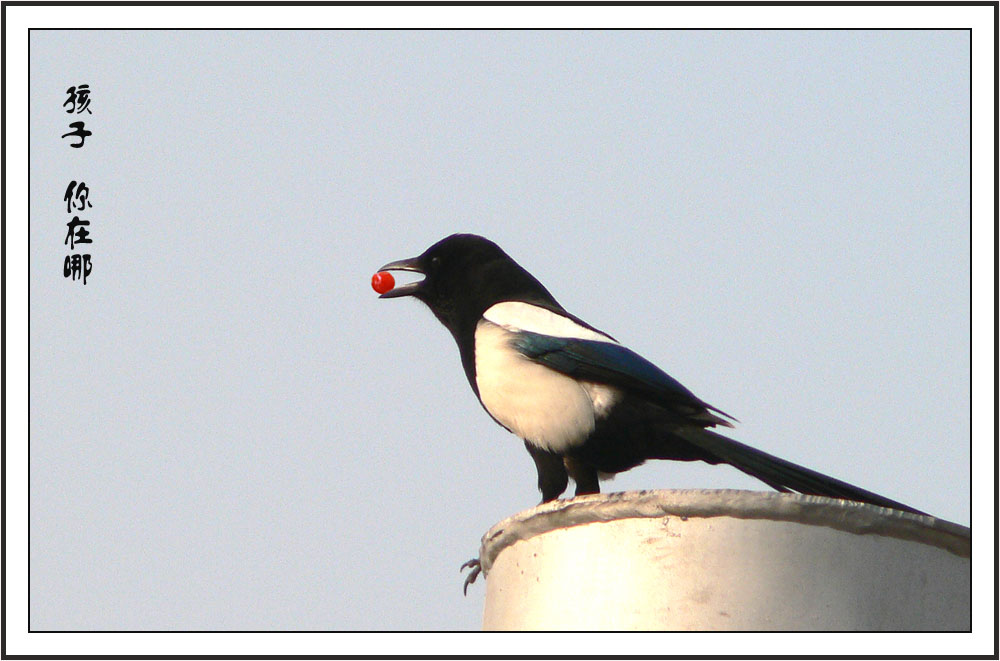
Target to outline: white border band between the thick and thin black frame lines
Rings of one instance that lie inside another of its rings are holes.
[[[6,6],[6,653],[179,655],[971,655],[993,647],[995,13],[991,6]],[[27,632],[27,52],[30,28],[968,28],[972,30],[971,634]],[[992,328],[992,332],[991,329]],[[488,637],[484,637],[484,635]],[[664,636],[669,636],[669,640]]]

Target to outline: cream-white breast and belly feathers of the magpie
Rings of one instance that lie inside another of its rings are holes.
[[[614,404],[616,391],[531,361],[511,345],[513,337],[485,319],[476,327],[476,386],[483,406],[536,447],[563,453],[584,443],[595,419]]]

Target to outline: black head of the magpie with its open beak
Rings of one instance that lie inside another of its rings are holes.
[[[413,296],[453,333],[501,301],[559,307],[538,280],[500,246],[475,234],[452,234],[418,257],[389,262],[380,271],[412,271],[424,279],[400,285],[379,298]],[[457,335],[456,335],[457,336]]]

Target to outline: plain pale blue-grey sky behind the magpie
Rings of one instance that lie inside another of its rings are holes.
[[[969,523],[967,32],[34,31],[30,64],[33,629],[478,628],[458,566],[534,467],[368,284],[456,231],[735,438]]]

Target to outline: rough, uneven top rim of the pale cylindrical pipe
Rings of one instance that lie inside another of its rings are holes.
[[[483,535],[479,561],[483,573],[489,574],[501,551],[536,535],[598,521],[664,516],[792,521],[858,535],[912,540],[966,558],[972,553],[970,528],[933,516],[797,493],[660,489],[577,496],[525,510],[504,519]]]

